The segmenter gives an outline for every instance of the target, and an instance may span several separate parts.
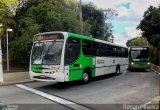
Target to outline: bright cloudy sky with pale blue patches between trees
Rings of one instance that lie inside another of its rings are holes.
[[[112,8],[118,12],[110,22],[113,25],[114,43],[126,45],[127,40],[141,36],[136,27],[143,19],[149,6],[157,7],[160,0],[82,0],[82,3],[93,2],[97,8]]]

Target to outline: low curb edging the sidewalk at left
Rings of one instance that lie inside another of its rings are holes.
[[[9,85],[14,85],[14,84],[29,83],[29,82],[36,82],[36,81],[24,80],[24,81],[13,81],[13,82],[0,82],[0,86],[9,86]]]

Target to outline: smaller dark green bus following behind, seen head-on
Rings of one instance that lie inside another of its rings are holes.
[[[132,46],[129,49],[129,69],[149,69],[150,51],[148,46]]]

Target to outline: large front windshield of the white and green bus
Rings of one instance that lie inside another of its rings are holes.
[[[32,64],[59,65],[63,41],[37,42],[33,45]]]

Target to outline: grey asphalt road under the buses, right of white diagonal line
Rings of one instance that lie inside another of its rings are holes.
[[[94,78],[86,85],[80,82],[35,82],[25,85],[87,106],[144,104],[159,95],[159,76],[152,71],[126,71],[119,76],[106,75]]]

